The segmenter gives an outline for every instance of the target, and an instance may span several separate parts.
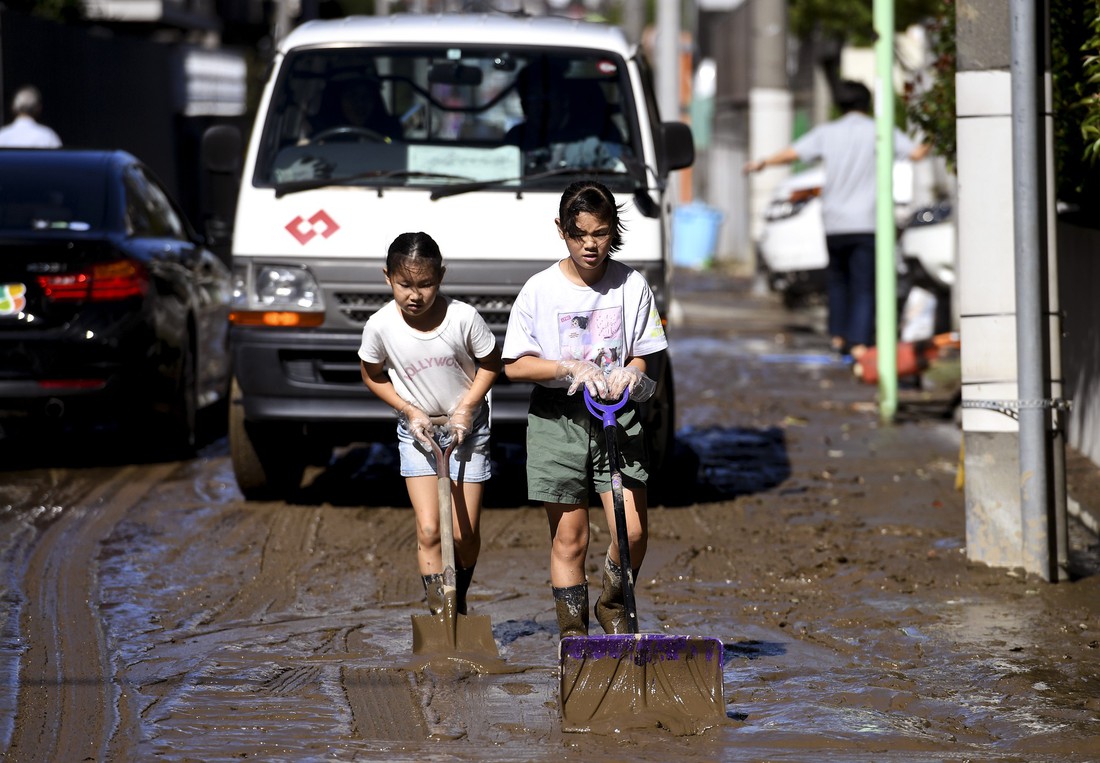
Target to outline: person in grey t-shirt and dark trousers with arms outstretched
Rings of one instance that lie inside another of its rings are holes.
[[[769,165],[825,163],[822,218],[828,250],[828,332],[833,350],[858,360],[875,344],[876,129],[871,91],[843,80],[837,119],[813,128],[782,151],[745,165],[745,174]],[[927,144],[894,130],[894,157],[920,161]]]

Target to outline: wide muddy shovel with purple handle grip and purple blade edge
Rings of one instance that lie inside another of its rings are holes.
[[[679,734],[700,733],[726,717],[723,646],[718,639],[639,633],[634,567],[626,530],[623,474],[615,413],[618,402],[584,403],[603,422],[612,476],[615,535],[623,568],[623,604],[628,633],[565,637],[559,646],[563,731],[610,731],[661,726]]]

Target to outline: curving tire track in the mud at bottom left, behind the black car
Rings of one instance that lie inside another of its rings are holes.
[[[23,576],[28,645],[6,760],[107,760],[124,742],[119,730],[133,728],[92,609],[94,571],[116,524],[177,467],[121,468],[42,532]]]

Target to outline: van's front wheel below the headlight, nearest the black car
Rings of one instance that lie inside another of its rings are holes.
[[[237,486],[248,500],[278,499],[294,493],[306,471],[300,436],[288,427],[248,421],[241,386],[233,378],[229,400],[229,454]]]

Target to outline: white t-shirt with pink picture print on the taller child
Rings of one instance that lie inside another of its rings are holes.
[[[531,276],[512,308],[504,336],[504,357],[535,355],[550,360],[591,361],[605,371],[623,358],[669,346],[653,292],[640,273],[608,259],[607,272],[593,286],[565,277],[559,263]],[[568,387],[568,382],[542,382]]]

